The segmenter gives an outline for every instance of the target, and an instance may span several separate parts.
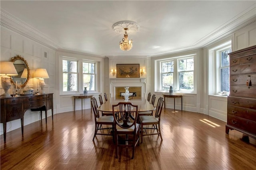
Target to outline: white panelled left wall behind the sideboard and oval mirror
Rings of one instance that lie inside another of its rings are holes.
[[[47,53],[47,58],[44,57],[44,53]],[[44,88],[46,93],[54,93],[54,113],[56,113],[56,72],[55,72],[55,51],[40,43],[32,41],[30,37],[24,37],[19,33],[11,31],[1,26],[1,61],[10,61],[11,57],[20,55],[27,62],[30,70],[30,80],[26,87],[34,88],[38,79],[33,78],[33,70],[36,68],[46,68],[49,79],[45,79],[46,86]],[[25,87],[25,88],[26,88]],[[0,89],[1,94],[4,93],[2,87]],[[9,90],[10,94],[11,90]],[[51,110],[47,112],[48,116],[52,115]],[[42,118],[45,118],[45,114],[42,114]],[[40,111],[27,110],[24,114],[24,125],[28,125],[35,121],[40,120]],[[45,123],[45,122],[43,122]],[[0,125],[0,134],[3,134],[3,125]],[[7,132],[21,127],[20,119],[8,122],[6,125]],[[21,132],[20,132],[21,133]],[[26,132],[24,132],[26,133]]]

